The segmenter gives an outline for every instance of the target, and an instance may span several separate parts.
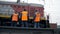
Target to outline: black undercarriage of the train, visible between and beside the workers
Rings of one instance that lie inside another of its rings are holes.
[[[39,22],[40,28],[49,28],[50,25],[47,22],[49,22],[49,21],[48,20],[41,20]],[[17,22],[16,27],[21,27],[21,25],[18,24],[18,23],[19,23],[19,21]],[[11,18],[2,18],[2,17],[0,17],[0,26],[11,26],[11,24],[12,24]],[[28,27],[34,28],[33,19],[28,20]]]

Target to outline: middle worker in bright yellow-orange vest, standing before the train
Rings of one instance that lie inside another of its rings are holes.
[[[26,11],[26,9],[24,9],[21,12],[21,21],[22,21],[22,27],[28,27],[28,11]]]

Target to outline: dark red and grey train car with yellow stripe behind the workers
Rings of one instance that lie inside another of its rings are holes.
[[[26,9],[28,11],[30,22],[33,20],[35,10],[38,10],[42,17],[41,18],[41,23],[43,23],[42,25],[43,26],[44,24],[46,25],[47,20],[44,17],[43,5],[32,3],[28,4],[28,3],[0,2],[0,22],[2,22],[1,25],[5,23],[10,24],[11,15],[13,14],[13,12],[17,11],[18,13],[20,13],[21,11],[23,11],[23,9]]]

